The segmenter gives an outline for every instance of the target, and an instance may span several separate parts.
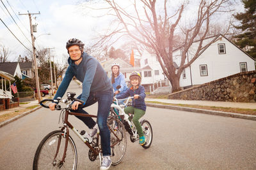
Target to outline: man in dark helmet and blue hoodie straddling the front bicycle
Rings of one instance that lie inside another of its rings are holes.
[[[83,92],[77,97],[84,103],[75,101],[72,104],[72,110],[77,113],[88,114],[82,108],[90,106],[98,102],[97,124],[100,130],[100,138],[102,143],[103,160],[100,169],[109,169],[111,166],[111,148],[110,133],[108,129],[108,114],[113,101],[113,88],[108,75],[94,57],[83,52],[84,44],[76,38],[67,41],[66,48],[70,57],[68,58],[68,68],[65,77],[61,81],[54,99],[62,97],[74,76],[83,82]],[[49,104],[49,108],[54,110],[56,103]],[[97,133],[97,124],[92,118],[78,117],[90,129],[90,136]]]

